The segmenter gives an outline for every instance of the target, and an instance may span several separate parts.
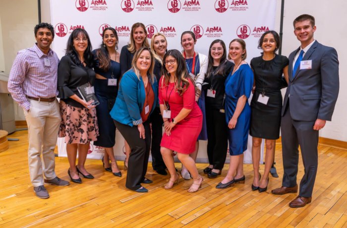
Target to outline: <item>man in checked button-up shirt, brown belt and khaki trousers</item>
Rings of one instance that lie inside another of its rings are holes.
[[[24,110],[28,124],[28,162],[36,196],[49,198],[44,183],[66,186],[55,173],[54,149],[60,125],[56,99],[58,56],[50,48],[54,39],[51,24],[34,28],[37,43],[18,52],[8,78],[8,91]],[[42,161],[41,161],[42,154]]]

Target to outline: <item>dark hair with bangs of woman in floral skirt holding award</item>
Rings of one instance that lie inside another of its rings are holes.
[[[73,39],[78,37],[80,34],[82,34],[82,36],[84,38],[87,38],[87,40],[88,40],[88,46],[87,46],[87,49],[83,53],[83,57],[84,57],[84,62],[87,64],[87,66],[92,68],[93,67],[92,44],[90,43],[90,39],[89,39],[87,31],[82,29],[82,28],[77,28],[77,29],[72,31],[69,39],[67,40],[65,55],[70,56],[72,61],[75,64],[81,63],[81,61],[78,58],[79,55],[78,55],[77,51],[75,50],[75,47],[73,47]]]

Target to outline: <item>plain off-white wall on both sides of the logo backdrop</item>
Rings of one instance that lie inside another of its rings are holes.
[[[41,0],[42,21],[50,21],[49,1]],[[276,31],[280,31],[281,0],[277,1]],[[33,28],[38,22],[37,0],[10,0],[1,2],[0,7],[0,32],[2,31],[3,57],[5,71],[8,73],[18,50],[27,48],[35,42]],[[292,21],[303,13],[308,13],[316,18],[317,31],[315,39],[327,46],[336,48],[340,60],[340,94],[336,104],[333,120],[327,122],[320,131],[321,137],[347,141],[347,55],[345,40],[347,37],[347,1],[346,0],[286,0],[283,30],[282,55],[289,56],[290,52],[300,44],[293,34]],[[15,13],[14,13],[15,12]],[[338,45],[340,44],[340,45]],[[1,35],[0,35],[0,52]],[[2,58],[3,58],[2,57]],[[16,120],[24,119],[19,109]]]

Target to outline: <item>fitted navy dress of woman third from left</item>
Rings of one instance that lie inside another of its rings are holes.
[[[93,51],[95,56],[96,51]],[[99,124],[99,136],[94,145],[100,147],[114,147],[116,140],[116,126],[109,114],[115,103],[118,93],[118,83],[120,78],[120,64],[111,60],[111,66],[107,72],[99,68],[98,59],[94,59],[94,71],[105,78],[117,79],[116,86],[109,86],[108,79],[95,79],[94,90],[100,104],[96,107],[96,114]]]

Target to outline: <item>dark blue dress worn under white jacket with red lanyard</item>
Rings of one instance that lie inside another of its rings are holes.
[[[195,57],[195,67],[194,67],[194,75],[196,76],[198,73],[200,73],[200,61],[199,61],[199,54]],[[193,58],[186,58],[185,62],[187,63],[187,70],[188,73],[192,72],[193,67]],[[201,132],[199,134],[198,140],[207,140],[207,127],[206,127],[206,112],[205,112],[205,91],[201,90],[200,98],[198,100],[198,106],[201,109],[202,112],[202,128]]]

